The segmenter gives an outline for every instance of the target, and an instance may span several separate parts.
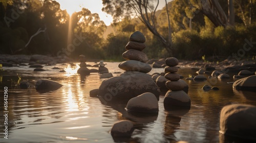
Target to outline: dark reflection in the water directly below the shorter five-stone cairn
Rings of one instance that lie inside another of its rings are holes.
[[[164,123],[164,135],[168,136],[167,138],[170,139],[170,141],[175,141],[174,133],[176,130],[180,129],[180,121],[183,115],[185,115],[190,108],[172,108],[166,110],[165,114],[165,123]]]

